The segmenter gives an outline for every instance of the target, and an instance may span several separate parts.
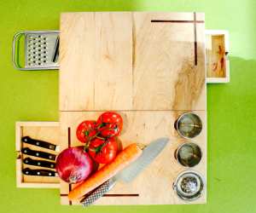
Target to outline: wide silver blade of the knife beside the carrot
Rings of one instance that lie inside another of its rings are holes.
[[[148,146],[143,149],[142,155],[137,158],[133,164],[120,171],[114,178],[125,182],[132,181],[159,155],[164,147],[166,147],[168,141],[169,138],[160,138],[149,143]]]

